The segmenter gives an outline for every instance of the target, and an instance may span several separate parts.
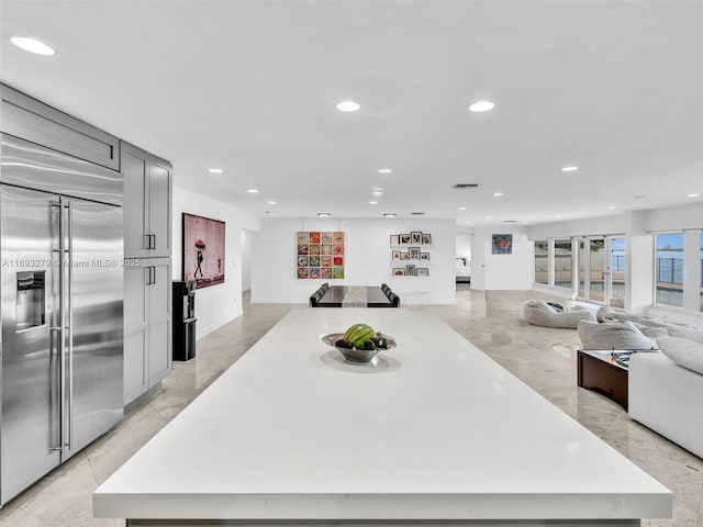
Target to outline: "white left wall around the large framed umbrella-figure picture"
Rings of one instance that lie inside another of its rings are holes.
[[[196,292],[197,338],[201,338],[242,314],[242,229],[258,228],[258,220],[226,203],[174,187],[174,280],[181,280],[183,212],[225,222],[225,281]]]

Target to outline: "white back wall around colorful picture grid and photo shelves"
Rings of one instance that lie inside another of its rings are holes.
[[[301,280],[295,271],[298,231],[345,233],[345,278]],[[390,235],[422,231],[432,234],[427,266],[417,261],[391,261]],[[252,236],[252,302],[306,303],[327,281],[331,285],[380,285],[386,282],[402,304],[455,303],[454,220],[405,218],[265,218]],[[393,267],[414,264],[428,267],[429,277],[393,278]]]

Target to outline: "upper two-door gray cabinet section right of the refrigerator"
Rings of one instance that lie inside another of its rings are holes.
[[[124,256],[171,256],[172,168],[167,161],[122,142]]]

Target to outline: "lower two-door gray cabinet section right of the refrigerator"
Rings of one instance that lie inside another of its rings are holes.
[[[125,405],[157,386],[171,369],[170,258],[133,262],[138,265],[124,270]]]

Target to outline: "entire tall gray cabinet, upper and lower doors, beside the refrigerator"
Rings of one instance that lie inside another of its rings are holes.
[[[171,369],[169,162],[129,143],[124,175],[124,404],[159,386]]]

